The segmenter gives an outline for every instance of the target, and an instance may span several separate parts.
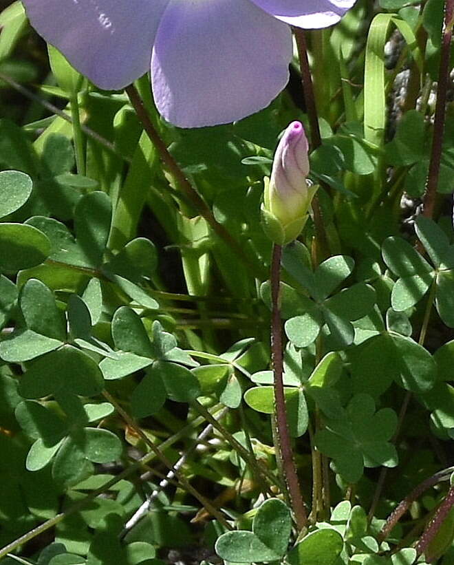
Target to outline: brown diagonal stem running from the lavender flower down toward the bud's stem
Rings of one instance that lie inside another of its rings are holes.
[[[184,172],[182,171],[182,169],[180,169],[171,153],[169,153],[169,150],[167,149],[164,141],[162,141],[160,135],[158,134],[158,131],[156,131],[155,127],[153,126],[153,123],[151,122],[151,119],[147,114],[147,110],[142,103],[142,99],[140,98],[136,87],[134,87],[134,85],[129,85],[125,88],[125,91],[129,97],[129,100],[131,101],[131,105],[136,110],[136,114],[140,122],[142,122],[144,130],[147,132],[147,135],[155,146],[156,151],[158,151],[160,160],[165,165],[165,167],[167,167],[167,169],[175,179],[175,182],[177,182],[180,190],[194,206],[194,209],[197,211],[197,213],[199,213],[199,215],[204,218],[204,220],[206,220],[215,234],[220,239],[222,239],[230,247],[230,249],[233,250],[235,255],[237,255],[237,257],[241,260],[241,262],[243,262],[247,266],[248,270],[252,269],[258,271],[258,273],[255,273],[255,275],[263,275],[263,273],[261,273],[262,269],[259,268],[258,265],[255,265],[254,268],[252,268],[250,260],[244,254],[243,248],[241,248],[237,241],[230,235],[230,233],[228,233],[226,228],[224,228],[224,226],[217,222],[213,215],[213,212],[210,210],[199,193],[191,185],[191,182],[188,181],[186,175],[184,175]]]

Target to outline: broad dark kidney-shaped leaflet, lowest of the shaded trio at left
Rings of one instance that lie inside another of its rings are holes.
[[[94,396],[103,386],[102,373],[96,362],[72,345],[65,345],[30,364],[19,388],[24,398],[41,398],[63,390],[80,396]]]

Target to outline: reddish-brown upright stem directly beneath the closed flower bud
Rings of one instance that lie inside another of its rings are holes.
[[[277,434],[279,451],[281,452],[282,467],[285,482],[288,487],[292,509],[298,529],[301,531],[307,525],[307,513],[305,511],[301,487],[294,464],[290,434],[288,433],[287,412],[285,411],[285,397],[283,389],[283,356],[282,356],[282,332],[281,332],[281,307],[279,304],[279,286],[281,283],[281,256],[282,247],[273,245],[271,264],[271,349],[272,365],[274,373],[274,403],[277,422]]]

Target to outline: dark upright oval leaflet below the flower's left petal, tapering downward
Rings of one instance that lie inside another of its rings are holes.
[[[93,267],[102,263],[109,237],[112,206],[109,196],[100,191],[80,198],[74,212],[74,228],[80,248]]]

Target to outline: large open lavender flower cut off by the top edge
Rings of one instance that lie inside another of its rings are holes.
[[[201,127],[266,107],[288,81],[290,26],[325,28],[356,0],[23,0],[30,22],[102,89],[151,65],[166,120]]]

